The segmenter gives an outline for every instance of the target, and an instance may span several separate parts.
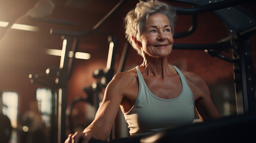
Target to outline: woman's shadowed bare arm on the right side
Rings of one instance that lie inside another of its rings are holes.
[[[184,72],[184,76],[193,92],[196,110],[199,113],[200,119],[203,121],[220,118],[220,114],[212,102],[209,88],[205,81],[195,73]]]

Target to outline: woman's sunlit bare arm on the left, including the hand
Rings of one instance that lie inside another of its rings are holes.
[[[106,141],[110,135],[113,122],[119,110],[123,98],[123,90],[125,82],[122,82],[122,74],[116,74],[107,85],[104,93],[103,101],[98,108],[94,121],[85,128],[84,132],[76,132],[70,134],[65,143],[83,143],[89,142],[91,139],[99,139]],[[73,142],[72,142],[73,141]]]

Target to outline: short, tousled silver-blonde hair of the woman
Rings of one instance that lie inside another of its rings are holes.
[[[172,35],[174,34],[174,21],[176,18],[176,11],[171,5],[168,5],[164,2],[160,2],[158,0],[149,0],[149,1],[141,1],[138,2],[134,10],[129,11],[124,19],[125,24],[125,38],[131,43],[133,48],[138,52],[139,55],[144,57],[143,51],[140,47],[138,47],[135,42],[132,40],[133,38],[138,39],[140,41],[141,31],[143,29],[144,23],[146,23],[147,18],[149,18],[150,14],[164,14],[169,19],[169,23],[171,25]]]

